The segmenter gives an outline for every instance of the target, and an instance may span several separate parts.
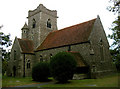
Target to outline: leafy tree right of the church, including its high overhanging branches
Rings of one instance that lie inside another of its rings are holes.
[[[109,6],[108,10],[117,13],[120,10],[120,0],[110,0],[113,6]],[[120,13],[120,12],[119,12]],[[110,39],[113,39],[113,44],[111,45],[111,55],[116,68],[120,71],[120,16],[113,22],[113,27],[111,28],[112,34],[108,35]]]

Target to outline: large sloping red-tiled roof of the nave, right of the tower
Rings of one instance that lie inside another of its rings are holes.
[[[49,33],[36,51],[88,41],[95,20],[93,19]]]

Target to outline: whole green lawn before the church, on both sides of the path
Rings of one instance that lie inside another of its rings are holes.
[[[120,78],[120,73],[119,73]],[[52,79],[52,78],[51,78]],[[70,83],[57,84],[55,80],[52,84],[42,85],[40,87],[118,87],[118,74],[106,76],[101,79],[83,79],[83,80],[70,80]],[[19,85],[37,84],[43,82],[32,81],[31,77],[14,78],[2,77],[2,87],[13,87]],[[45,82],[44,82],[45,83]],[[120,84],[120,83],[119,83]]]

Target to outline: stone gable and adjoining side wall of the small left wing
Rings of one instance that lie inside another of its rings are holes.
[[[16,53],[15,53],[16,51]],[[15,57],[16,56],[16,57]],[[11,54],[10,54],[10,60],[8,62],[8,68],[7,68],[7,75],[8,76],[15,76],[17,77],[23,77],[24,75],[24,59],[25,59],[25,75],[31,76],[32,67],[34,64],[34,55],[33,54],[23,54],[21,53],[20,45],[15,38]],[[27,68],[27,62],[30,60],[30,68]],[[15,70],[14,70],[15,68]]]

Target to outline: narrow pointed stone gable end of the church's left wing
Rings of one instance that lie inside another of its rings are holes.
[[[8,69],[7,69],[7,75],[13,76],[13,67],[16,68],[16,75],[20,76],[20,66],[21,66],[21,52],[20,52],[19,44],[17,38],[15,38],[13,48],[11,50],[10,54],[10,60],[8,62]]]

